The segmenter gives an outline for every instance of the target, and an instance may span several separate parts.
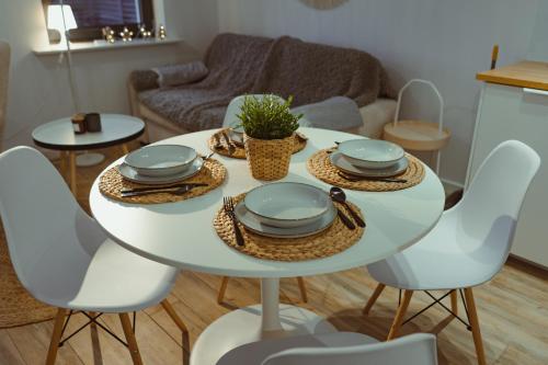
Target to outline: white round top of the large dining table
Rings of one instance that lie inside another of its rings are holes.
[[[289,174],[282,181],[304,182],[329,190],[328,184],[307,171],[308,157],[318,149],[333,147],[335,140],[358,136],[315,128],[299,130],[309,137],[308,145],[293,155]],[[212,133],[214,130],[181,135],[159,144],[186,145],[207,153],[207,139]],[[225,164],[228,176],[221,186],[206,195],[168,204],[125,204],[103,196],[98,187],[98,178],[90,193],[91,210],[114,240],[151,260],[218,275],[287,277],[338,272],[386,259],[426,235],[439,219],[444,207],[442,183],[425,167],[424,180],[410,189],[383,193],[345,190],[349,199],[359,206],[367,223],[364,236],[350,249],[320,260],[260,260],[226,246],[212,223],[224,196],[243,193],[263,182],[251,176],[246,160],[218,155],[215,158]]]

